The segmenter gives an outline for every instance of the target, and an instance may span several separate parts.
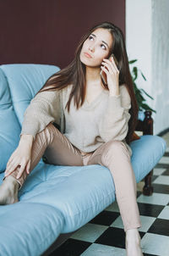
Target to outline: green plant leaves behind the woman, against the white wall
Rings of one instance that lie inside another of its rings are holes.
[[[128,64],[134,64],[136,61],[137,61],[137,59],[130,60],[128,62]],[[145,111],[145,110],[150,110],[150,111],[156,113],[156,111],[154,109],[151,109],[150,106],[147,103],[145,103],[145,99],[144,99],[143,93],[146,96],[148,96],[151,99],[153,99],[153,100],[154,100],[154,98],[151,97],[147,92],[145,92],[144,89],[139,89],[138,86],[136,85],[136,80],[138,78],[139,73],[144,78],[144,81],[146,81],[146,78],[144,77],[144,75],[141,72],[141,70],[139,70],[136,66],[134,66],[132,71],[131,71],[131,75],[132,75],[132,79],[133,79],[133,82],[134,82],[134,92],[135,92],[135,96],[136,96],[136,99],[137,99],[137,102],[138,102],[138,105],[139,105],[139,111],[141,112],[141,111]]]

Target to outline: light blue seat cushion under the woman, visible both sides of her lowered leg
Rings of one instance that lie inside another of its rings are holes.
[[[131,147],[134,175],[139,182],[161,159],[166,142],[160,136],[141,136]],[[62,233],[67,233],[85,225],[114,202],[115,186],[111,172],[99,164],[56,166],[41,162],[19,191],[19,200],[59,210],[64,217]]]

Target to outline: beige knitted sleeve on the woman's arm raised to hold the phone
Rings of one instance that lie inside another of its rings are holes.
[[[99,124],[99,132],[104,142],[123,141],[128,134],[128,120],[131,98],[125,85],[120,86],[120,94],[109,96],[106,113]]]

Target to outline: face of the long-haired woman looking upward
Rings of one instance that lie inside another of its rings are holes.
[[[112,35],[106,29],[98,28],[85,40],[81,49],[80,61],[90,67],[101,66],[112,47]]]

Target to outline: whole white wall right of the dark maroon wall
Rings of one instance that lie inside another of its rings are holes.
[[[129,60],[142,70],[137,85],[155,100],[145,97],[156,114],[154,134],[169,127],[169,1],[126,0],[126,46]]]

